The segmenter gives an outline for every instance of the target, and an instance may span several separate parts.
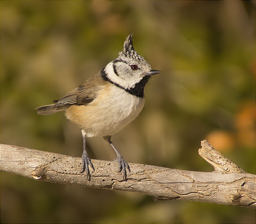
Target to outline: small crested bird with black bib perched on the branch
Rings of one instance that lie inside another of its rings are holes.
[[[64,97],[53,100],[54,104],[35,108],[41,115],[65,111],[66,118],[81,128],[83,154],[80,173],[86,170],[88,180],[91,178],[89,166],[93,171],[95,169],[86,151],[87,137],[98,136],[108,141],[116,152],[117,172],[123,170],[123,180],[127,179],[126,169],[131,172],[111,137],[139,115],[145,103],[146,84],[151,76],[161,72],[151,69],[148,61],[134,50],[132,37],[132,33],[126,37],[118,57],[94,76]]]

